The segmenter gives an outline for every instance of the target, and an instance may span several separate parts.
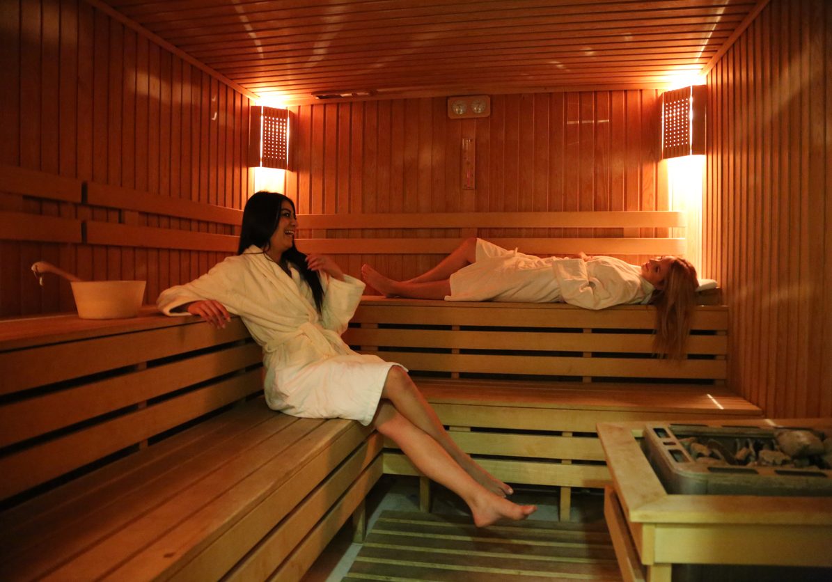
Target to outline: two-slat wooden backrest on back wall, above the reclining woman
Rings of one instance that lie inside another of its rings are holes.
[[[299,215],[298,222],[306,253],[448,254],[472,236],[529,254],[685,253],[685,239],[670,235],[685,226],[674,211]]]

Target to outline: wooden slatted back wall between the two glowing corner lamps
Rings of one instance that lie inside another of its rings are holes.
[[[297,106],[287,193],[300,214],[668,210],[666,170],[657,161],[658,96],[653,90],[494,95],[490,116],[468,120],[448,119],[444,97]],[[462,188],[463,138],[476,144],[475,190]],[[490,229],[485,235],[579,234],[563,230]],[[595,230],[580,235],[605,235]],[[635,230],[625,235],[668,235],[666,229]],[[407,235],[453,236],[430,229]],[[394,278],[409,278],[438,258],[339,260],[350,274],[369,262]]]

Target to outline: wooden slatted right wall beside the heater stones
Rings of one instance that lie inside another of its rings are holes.
[[[832,416],[830,63],[830,2],[774,0],[708,76],[704,269],[769,417]]]

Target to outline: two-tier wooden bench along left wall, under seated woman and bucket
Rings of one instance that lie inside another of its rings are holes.
[[[356,422],[265,406],[235,318],[0,322],[7,580],[298,580],[382,471]]]

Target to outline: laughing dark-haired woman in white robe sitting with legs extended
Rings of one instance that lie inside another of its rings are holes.
[[[245,205],[237,254],[166,289],[159,308],[220,327],[230,313],[239,315],[264,351],[269,407],[374,423],[424,475],[461,496],[477,525],[530,515],[534,506],[508,501],[511,488],[453,442],[404,367],[355,353],[341,340],[364,284],[329,257],[296,249],[297,226],[289,198],[256,193]]]

